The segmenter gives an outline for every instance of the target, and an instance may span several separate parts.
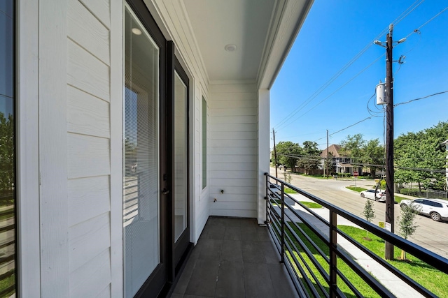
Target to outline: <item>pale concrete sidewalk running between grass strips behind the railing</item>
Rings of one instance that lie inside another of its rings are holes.
[[[312,202],[308,198],[305,198],[302,195],[292,195],[293,198],[300,201],[308,201]],[[301,216],[307,219],[309,223],[313,224],[318,230],[321,230],[323,234],[328,236],[329,230],[328,226],[325,223],[322,223],[317,218],[309,214],[304,208],[302,208],[298,204],[294,204],[293,209],[297,211],[301,211]],[[326,208],[321,209],[313,209],[313,211],[325,219],[325,221],[329,221],[329,211]],[[286,210],[288,215],[291,218],[294,218],[295,221],[300,223],[300,219],[292,214],[291,211]],[[337,216],[337,224],[338,225],[351,225],[357,227],[357,225],[351,223],[351,221],[346,220],[342,216]],[[374,261],[370,256],[366,255],[363,251],[360,251],[359,248],[351,244],[344,237],[338,237],[337,244],[344,248],[344,251],[349,253],[353,257],[353,260],[356,260],[360,266],[362,266],[366,271],[370,272],[372,276],[374,276],[382,285],[384,285],[388,290],[390,290],[393,295],[396,297],[409,298],[409,297],[423,297],[419,292],[416,292],[413,288],[411,288],[407,283],[401,281],[400,278],[392,274],[390,271],[385,269],[378,262]]]

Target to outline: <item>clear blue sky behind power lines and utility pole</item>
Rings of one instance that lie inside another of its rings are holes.
[[[276,131],[276,142],[302,144],[309,140],[325,149],[328,129],[330,135],[334,133],[330,144],[356,133],[362,133],[365,140],[378,138],[383,144],[384,119],[376,98],[368,106],[379,112],[374,114],[379,117],[356,124],[371,117],[367,103],[379,80],[384,82],[386,77],[386,50],[372,42],[385,41],[391,23],[393,40],[407,36],[405,43],[393,47],[394,60],[405,55],[404,64],[393,64],[394,104],[447,91],[447,7],[447,0],[314,1],[271,89],[270,125],[271,131]],[[413,33],[415,29],[420,33]],[[335,77],[350,61],[353,63]],[[394,135],[421,131],[439,121],[448,121],[448,93],[396,106]],[[352,124],[356,125],[336,133]]]

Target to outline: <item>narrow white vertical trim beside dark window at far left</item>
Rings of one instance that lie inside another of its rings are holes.
[[[38,161],[38,0],[18,1],[17,82],[17,253],[18,296],[41,293]],[[26,220],[25,220],[26,219]]]

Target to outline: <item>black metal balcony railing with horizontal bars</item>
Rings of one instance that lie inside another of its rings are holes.
[[[426,262],[427,265],[442,271],[444,274],[448,274],[447,259],[285,181],[276,179],[267,173],[265,173],[265,177],[267,227],[279,250],[281,262],[285,264],[300,297],[363,297],[363,291],[358,289],[360,283],[367,285],[380,297],[395,297],[388,288],[380,283],[376,276],[353,259],[339,244],[339,237],[349,241],[356,249],[363,251],[374,262],[390,271],[424,297],[437,297],[423,285],[420,285],[348,234],[339,230],[337,228],[337,216],[342,216],[359,228],[363,228],[384,241],[388,241],[393,246],[414,255],[415,258]],[[328,209],[329,220],[325,220],[312,209],[285,193],[286,187]],[[294,209],[292,204],[299,204],[306,212]],[[316,223],[320,228],[317,228]],[[342,267],[345,268],[346,266],[355,273],[356,278],[360,278],[362,281],[353,281],[347,277],[342,272],[347,271],[346,269],[342,270]],[[349,290],[341,290],[339,285],[342,283],[337,283],[338,278],[344,284],[344,289]]]

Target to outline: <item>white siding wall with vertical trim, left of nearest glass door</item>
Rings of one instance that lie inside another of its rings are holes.
[[[41,295],[121,297],[123,1],[40,12]]]

